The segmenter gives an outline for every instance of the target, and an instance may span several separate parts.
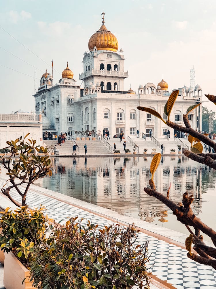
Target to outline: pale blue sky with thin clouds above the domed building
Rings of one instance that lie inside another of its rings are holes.
[[[0,113],[22,109],[34,110],[34,71],[36,88],[46,68],[54,61],[54,84],[69,68],[79,82],[82,58],[88,40],[105,25],[124,49],[125,71],[129,78],[124,89],[137,91],[148,81],[158,84],[164,75],[171,91],[190,86],[190,69],[194,65],[196,84],[204,94],[215,94],[215,1],[199,0],[110,0],[110,1],[41,1],[0,0],[0,26],[43,59],[24,48],[0,28],[0,64],[31,75],[25,76],[0,65]],[[22,62],[3,49],[36,68]],[[207,100],[205,97],[203,100]],[[215,110],[212,103],[205,103]]]

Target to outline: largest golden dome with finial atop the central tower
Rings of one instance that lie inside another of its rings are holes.
[[[102,25],[101,28],[96,31],[88,42],[88,49],[92,51],[94,46],[97,47],[97,50],[110,50],[117,52],[118,50],[118,40],[109,30],[107,30],[106,26],[104,25],[104,15],[103,12],[101,15],[102,17]]]

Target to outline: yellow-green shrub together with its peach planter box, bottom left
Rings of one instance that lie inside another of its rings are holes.
[[[48,217],[45,208],[19,209],[1,212],[0,246],[4,252],[4,286],[5,288],[35,288],[27,269],[34,246],[45,239]],[[13,277],[11,277],[13,272]]]

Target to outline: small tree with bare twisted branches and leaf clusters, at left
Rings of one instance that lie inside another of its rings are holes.
[[[10,148],[11,156],[7,163],[4,156],[1,157],[2,165],[7,170],[6,175],[9,176],[9,181],[11,183],[11,186],[6,186],[6,183],[3,188],[1,188],[1,192],[18,207],[25,205],[26,194],[31,184],[33,184],[37,179],[44,178],[46,175],[52,175],[48,148],[35,146],[36,140],[33,139],[28,138],[28,142],[25,141],[28,135],[29,134],[26,134],[23,140],[21,136],[15,141],[7,141],[7,148]],[[33,154],[34,150],[37,152],[41,150],[44,153],[44,156],[35,156]],[[16,161],[15,164],[12,163],[12,157],[14,156],[18,158],[18,161]],[[19,186],[22,184],[26,184],[24,192],[19,189]],[[22,203],[19,203],[14,197],[12,197],[10,194],[12,188],[15,188],[18,194],[22,197]]]

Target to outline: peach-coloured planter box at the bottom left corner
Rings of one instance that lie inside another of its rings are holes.
[[[29,281],[29,275],[29,270],[22,265],[13,253],[5,253],[4,286],[6,289],[34,289],[32,282]],[[24,278],[26,279],[22,284]]]

